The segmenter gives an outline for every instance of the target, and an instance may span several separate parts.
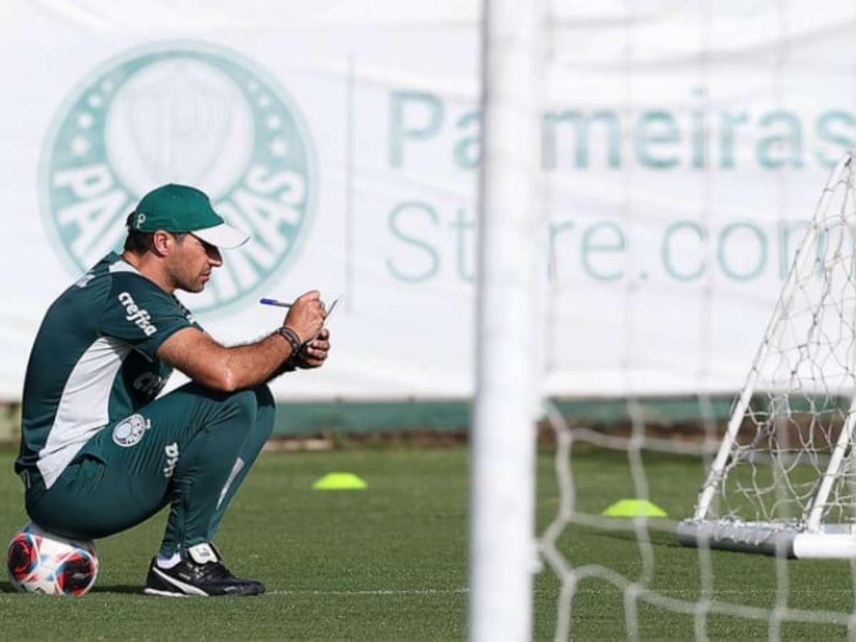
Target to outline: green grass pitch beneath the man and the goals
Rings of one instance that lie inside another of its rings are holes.
[[[98,543],[95,589],[81,598],[19,595],[0,581],[3,639],[463,639],[467,622],[466,449],[343,449],[265,453],[235,498],[217,544],[238,574],[265,581],[268,593],[245,598],[164,598],[141,592],[165,515]],[[0,532],[26,521],[13,455],[0,453]],[[583,449],[574,456],[578,508],[599,514],[633,496],[627,456]],[[368,490],[311,490],[331,471],[359,474]],[[646,455],[651,498],[680,519],[693,507],[702,469],[687,458]],[[538,458],[538,531],[558,506],[553,457]],[[645,574],[633,530],[569,526],[559,540],[574,567],[603,565],[626,580]],[[651,530],[650,587],[658,596],[695,602],[698,552]],[[716,600],[771,608],[853,612],[847,562],[787,562],[714,552]],[[777,583],[777,573],[784,574]],[[617,576],[616,576],[617,577]],[[787,582],[783,581],[787,580]],[[536,639],[552,639],[560,583],[550,568],[535,582]],[[625,639],[624,591],[590,577],[576,587],[574,639]],[[640,639],[693,639],[693,615],[638,603]],[[768,639],[768,622],[707,618],[710,639]],[[782,624],[784,639],[847,639],[843,626]]]

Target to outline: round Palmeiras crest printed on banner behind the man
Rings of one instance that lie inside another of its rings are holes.
[[[281,276],[312,219],[308,131],[270,74],[220,47],[150,45],[106,62],[68,98],[45,141],[45,225],[75,276],[119,249],[153,187],[199,187],[253,235],[224,252],[195,312],[232,306]]]

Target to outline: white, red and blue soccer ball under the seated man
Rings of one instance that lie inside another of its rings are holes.
[[[83,595],[98,577],[98,554],[90,540],[61,538],[30,522],[9,542],[6,568],[23,593]]]

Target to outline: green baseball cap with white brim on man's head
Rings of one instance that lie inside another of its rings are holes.
[[[228,225],[211,207],[207,194],[187,185],[163,185],[147,193],[131,216],[135,232],[191,232],[206,243],[229,249],[246,243],[250,235]]]

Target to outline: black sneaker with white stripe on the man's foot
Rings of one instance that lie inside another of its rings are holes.
[[[152,558],[146,577],[147,595],[183,597],[198,595],[259,595],[265,585],[256,580],[242,580],[229,573],[223,558],[213,544],[196,544],[182,551],[181,562],[173,568],[160,568]]]

